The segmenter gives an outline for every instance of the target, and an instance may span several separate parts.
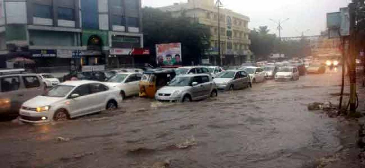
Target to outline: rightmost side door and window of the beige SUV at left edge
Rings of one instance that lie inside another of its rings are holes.
[[[45,86],[41,82],[41,78],[37,75],[22,75],[24,84],[23,100],[27,101],[31,98],[41,95],[45,90]]]

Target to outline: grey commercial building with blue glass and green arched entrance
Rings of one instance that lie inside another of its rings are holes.
[[[143,48],[141,0],[0,0],[0,67],[132,64]]]

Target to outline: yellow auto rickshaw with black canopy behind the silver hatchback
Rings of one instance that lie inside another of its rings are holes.
[[[139,97],[154,98],[158,89],[176,76],[173,69],[155,69],[143,72],[139,81]]]

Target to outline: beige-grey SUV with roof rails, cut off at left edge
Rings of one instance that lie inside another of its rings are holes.
[[[40,75],[23,72],[24,69],[0,70],[0,116],[18,116],[23,102],[45,91]]]

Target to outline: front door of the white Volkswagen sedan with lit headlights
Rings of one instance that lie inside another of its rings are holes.
[[[78,94],[76,98],[71,98],[71,95]],[[97,109],[95,105],[95,96],[91,94],[89,84],[78,86],[69,95],[69,114],[71,117],[87,114],[92,109]]]

